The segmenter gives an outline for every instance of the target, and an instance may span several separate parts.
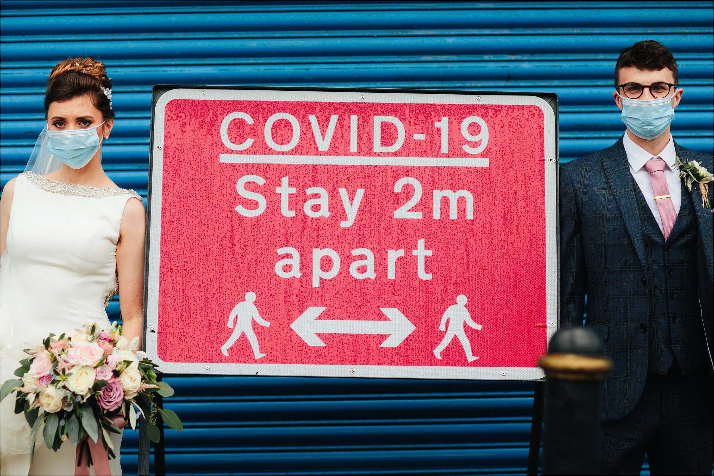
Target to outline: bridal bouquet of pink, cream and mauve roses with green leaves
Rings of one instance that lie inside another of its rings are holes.
[[[32,427],[30,461],[35,440],[44,422],[42,436],[56,451],[69,440],[91,464],[89,442],[101,440],[110,458],[115,457],[111,432],[119,433],[113,417],[123,416],[136,428],[136,411],[147,418],[147,432],[159,442],[157,418],[174,430],[183,430],[175,412],[154,405],[153,394],[174,395],[166,382],[157,382],[156,364],[139,348],[139,338],[127,340],[121,325],[99,329],[86,323],[57,337],[50,334],[41,345],[24,350],[28,358],[15,370],[19,379],[2,384],[0,400],[16,392],[15,412],[24,412]]]

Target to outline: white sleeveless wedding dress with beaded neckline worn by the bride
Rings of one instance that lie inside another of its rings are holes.
[[[126,202],[139,195],[124,188],[78,186],[21,173],[15,181],[7,253],[1,257],[0,377],[13,372],[30,343],[59,335],[87,321],[109,326],[106,305],[118,291],[116,244]],[[0,467],[3,475],[74,475],[69,441],[54,453],[42,430],[29,462],[30,427],[14,414],[12,393],[1,402]],[[111,434],[121,475],[121,435]],[[91,468],[94,475],[94,467]]]

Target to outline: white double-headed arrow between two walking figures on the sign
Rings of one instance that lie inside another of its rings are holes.
[[[380,308],[389,320],[317,320],[327,308],[307,308],[290,327],[307,345],[326,345],[316,334],[389,334],[380,347],[396,347],[416,327],[397,308]]]

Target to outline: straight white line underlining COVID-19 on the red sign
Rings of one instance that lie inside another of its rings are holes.
[[[485,157],[269,156],[221,153],[219,161],[222,163],[281,163],[323,166],[488,167],[488,158]]]

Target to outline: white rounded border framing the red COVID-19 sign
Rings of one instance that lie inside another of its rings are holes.
[[[522,367],[441,367],[421,365],[312,365],[261,363],[177,363],[164,362],[158,355],[159,262],[161,245],[161,191],[164,169],[164,114],[172,99],[208,99],[224,101],[334,101],[362,103],[438,103],[438,104],[511,104],[538,106],[543,111],[545,160],[545,293],[546,339],[550,343],[558,330],[558,162],[555,114],[538,96],[448,93],[402,93],[384,91],[316,91],[233,88],[181,88],[166,91],[154,108],[151,151],[151,196],[149,210],[149,249],[147,250],[146,352],[162,373],[193,375],[273,375],[293,377],[362,378],[435,378],[468,380],[538,380],[545,374],[540,368]],[[326,160],[328,160],[327,158]],[[488,159],[486,159],[488,160]],[[301,163],[298,161],[298,163]],[[356,164],[357,165],[357,164]],[[405,164],[415,165],[415,164]],[[433,165],[425,163],[424,165]],[[446,164],[444,164],[446,165]],[[484,166],[473,163],[471,166]]]

